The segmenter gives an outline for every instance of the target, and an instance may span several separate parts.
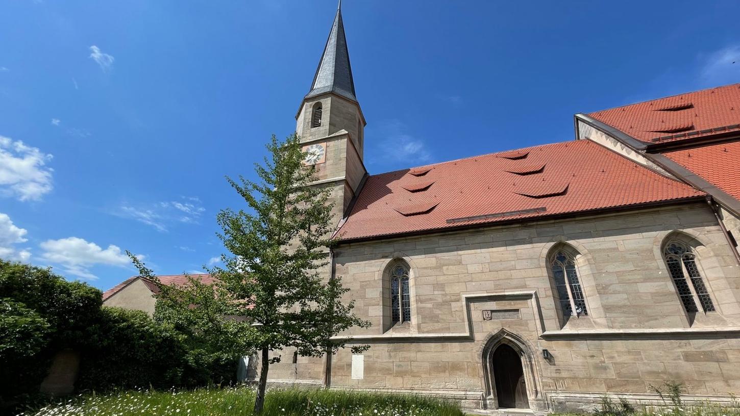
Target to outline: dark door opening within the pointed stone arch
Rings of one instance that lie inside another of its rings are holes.
[[[491,370],[499,409],[529,409],[522,359],[514,348],[500,344],[491,354]]]

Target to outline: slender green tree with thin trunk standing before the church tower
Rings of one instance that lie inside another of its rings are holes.
[[[218,214],[219,237],[229,254],[222,256],[223,267],[208,270],[218,281],[213,296],[184,296],[192,292],[188,287],[158,295],[158,303],[190,302],[192,314],[203,317],[193,318],[203,324],[198,327],[203,333],[210,327],[221,331],[223,319],[216,319],[217,313],[247,323],[222,338],[243,338],[239,347],[249,346],[260,355],[255,414],[262,412],[269,365],[279,361],[269,358],[271,350],[294,347],[303,356],[333,354],[349,341],[332,340],[334,335],[369,326],[354,316],[353,302],[340,300],[347,291],[340,280],[321,273],[328,270],[334,244],[329,189],[312,185],[315,170],[304,166],[295,134],[282,142],[273,136],[266,148],[269,156],[262,165],[255,164],[258,182],[227,178],[249,210]]]

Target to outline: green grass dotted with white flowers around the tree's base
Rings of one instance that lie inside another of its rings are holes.
[[[221,416],[252,415],[255,392],[240,387],[183,391],[134,390],[79,395],[24,416]],[[417,395],[389,395],[326,389],[272,389],[264,416],[462,416],[454,403]]]

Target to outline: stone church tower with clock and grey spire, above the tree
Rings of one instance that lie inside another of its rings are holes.
[[[332,188],[334,222],[349,214],[367,171],[363,165],[365,118],[354,94],[341,2],[334,16],[311,90],[295,116],[295,131],[316,166],[317,182]]]

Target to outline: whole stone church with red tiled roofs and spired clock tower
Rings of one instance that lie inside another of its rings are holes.
[[[369,174],[340,10],[296,115],[332,188],[326,276],[372,322],[271,381],[477,409],[740,394],[740,84],[574,116],[574,140]],[[208,279],[209,276],[203,276]],[[181,276],[164,280],[182,282]],[[133,277],[106,304],[153,310]]]

